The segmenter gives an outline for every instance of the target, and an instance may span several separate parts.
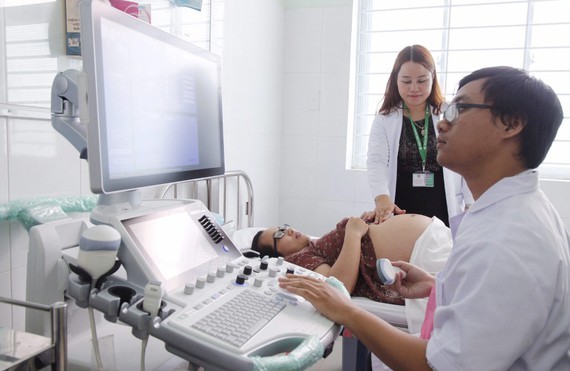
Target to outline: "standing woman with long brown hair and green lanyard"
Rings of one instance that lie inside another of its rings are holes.
[[[375,209],[362,217],[381,223],[405,212],[449,218],[472,196],[458,174],[437,157],[438,116],[444,104],[435,63],[421,45],[398,54],[368,142],[368,182]]]

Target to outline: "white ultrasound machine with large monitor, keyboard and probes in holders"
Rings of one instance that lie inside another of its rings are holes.
[[[52,124],[87,160],[99,202],[89,220],[31,231],[30,246],[57,245],[57,233],[78,246],[59,289],[207,370],[300,369],[328,355],[340,326],[277,284],[324,277],[242,253],[198,200],[142,199],[144,187],[224,172],[220,58],[102,1],[80,14],[83,71],[54,79]],[[28,270],[61,271],[60,256],[38,251]]]

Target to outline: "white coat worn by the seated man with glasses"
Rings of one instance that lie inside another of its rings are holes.
[[[436,305],[427,359],[437,370],[570,370],[569,237],[536,172],[471,206]]]

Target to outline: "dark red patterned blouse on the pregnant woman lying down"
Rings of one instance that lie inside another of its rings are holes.
[[[348,218],[341,220],[335,229],[320,239],[311,241],[303,250],[288,256],[285,260],[310,270],[321,264],[332,267],[342,250],[347,223]],[[404,299],[396,291],[387,289],[380,282],[376,273],[376,253],[368,234],[362,237],[360,272],[352,296],[366,297],[384,303],[404,304]]]

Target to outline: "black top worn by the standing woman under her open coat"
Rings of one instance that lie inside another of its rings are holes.
[[[443,183],[443,169],[437,163],[437,136],[430,116],[428,125],[428,143],[426,171],[434,174],[434,187],[413,187],[412,174],[422,171],[422,159],[410,119],[404,117],[400,149],[398,150],[398,177],[396,181],[395,203],[407,213],[422,214],[429,217],[437,216],[449,227],[449,214]],[[416,121],[423,127],[424,120]],[[418,129],[418,135],[421,134]]]

